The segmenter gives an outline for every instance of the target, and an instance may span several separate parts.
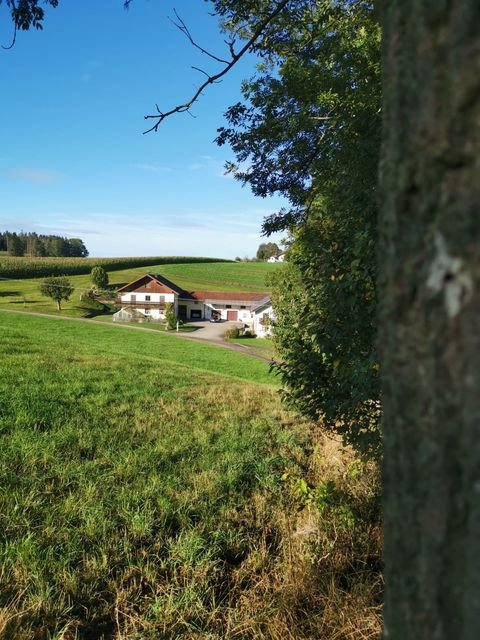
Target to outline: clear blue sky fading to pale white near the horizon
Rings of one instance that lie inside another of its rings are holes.
[[[0,229],[81,237],[92,256],[253,256],[280,199],[254,198],[224,175],[213,142],[240,99],[246,59],[193,108],[142,135],[155,103],[183,102],[218,70],[169,21],[176,9],[206,48],[226,55],[202,0],[60,0],[43,31],[0,50]],[[12,30],[0,6],[0,42]],[[278,241],[278,236],[271,238]]]

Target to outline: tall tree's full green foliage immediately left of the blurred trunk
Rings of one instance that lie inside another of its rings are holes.
[[[252,15],[271,8],[217,5],[227,28],[246,33]],[[290,202],[264,223],[267,233],[292,236],[292,265],[274,295],[285,396],[369,453],[379,448],[379,49],[370,2],[292,0],[257,45],[259,71],[217,139],[232,146],[237,179]]]

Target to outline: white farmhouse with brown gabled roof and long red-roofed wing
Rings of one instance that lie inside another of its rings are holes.
[[[233,320],[251,325],[253,310],[269,299],[266,293],[185,291],[167,278],[147,273],[118,290],[121,310],[116,321],[161,321],[170,303],[181,320]]]

